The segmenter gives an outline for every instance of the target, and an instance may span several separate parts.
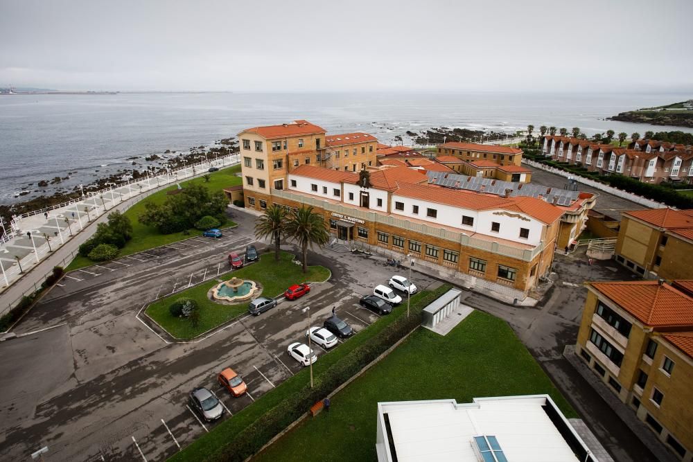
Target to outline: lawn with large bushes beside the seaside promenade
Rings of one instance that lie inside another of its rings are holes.
[[[240,172],[240,165],[223,168],[218,172],[210,173],[209,175],[211,175],[211,178],[209,179],[209,183],[205,182],[204,178],[200,177],[189,179],[188,181],[182,181],[180,185],[184,188],[189,184],[201,184],[202,186],[207,187],[211,193],[214,193],[224,188],[241,184],[240,177],[236,176],[237,172]],[[193,236],[200,236],[202,234],[202,231],[198,231],[197,229],[191,229],[187,232],[180,233],[160,234],[155,228],[145,226],[137,220],[137,215],[144,211],[146,204],[150,202],[153,204],[164,203],[164,201],[166,201],[166,193],[176,188],[177,186],[173,185],[164,190],[160,190],[157,193],[150,195],[146,199],[137,202],[137,204],[134,204],[134,206],[130,207],[128,211],[124,213],[126,217],[130,218],[130,222],[132,222],[132,239],[128,241],[123,249],[121,249],[119,253],[120,256],[136,254],[137,252],[143,250],[188,239]],[[234,226],[234,222],[228,221],[224,224],[224,226]],[[78,255],[67,267],[67,271],[79,269],[89,265],[94,265],[94,262],[89,260],[89,258]]]

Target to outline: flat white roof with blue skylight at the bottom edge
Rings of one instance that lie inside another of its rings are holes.
[[[551,398],[535,395],[475,398],[467,404],[455,400],[380,402],[378,426],[385,439],[376,443],[378,461],[477,462],[482,460],[475,453],[477,436],[495,436],[507,461],[579,461],[545,407],[557,411],[559,425],[568,429],[573,445],[588,454],[588,447]]]

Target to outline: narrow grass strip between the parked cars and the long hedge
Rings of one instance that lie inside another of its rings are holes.
[[[437,298],[444,294],[450,288],[449,285],[440,287],[435,291],[422,290],[418,294],[412,296],[412,311],[417,312],[423,308],[422,303],[428,296],[434,296]],[[434,294],[435,292],[435,294]],[[430,300],[426,304],[430,303]],[[334,366],[337,362],[342,359],[349,360],[348,356],[351,351],[368,344],[368,342],[376,337],[380,332],[383,331],[387,326],[389,326],[396,319],[406,315],[406,307],[397,307],[392,314],[388,316],[381,317],[376,322],[372,323],[368,328],[358,332],[358,335],[351,337],[348,341],[343,344],[336,346],[328,355],[321,355],[317,362],[313,364],[313,373],[315,375],[315,380],[324,375],[329,368]],[[346,359],[345,359],[346,358]],[[197,438],[191,445],[184,447],[181,452],[177,452],[168,459],[173,462],[181,461],[204,461],[214,459],[215,456],[219,456],[222,452],[222,447],[232,441],[235,436],[243,432],[243,430],[254,423],[259,418],[270,411],[270,409],[279,405],[280,402],[285,400],[288,396],[293,393],[297,393],[306,387],[309,380],[309,369],[304,368],[296,375],[289,377],[288,380],[282,382],[267,393],[265,393],[260,398],[256,400],[249,406],[245,407],[242,411],[234,414],[233,418],[224,420],[222,423],[217,425],[211,432],[203,434],[200,438]],[[373,416],[375,421],[375,416]],[[279,460],[282,460],[279,458]],[[348,459],[356,460],[356,459]]]

